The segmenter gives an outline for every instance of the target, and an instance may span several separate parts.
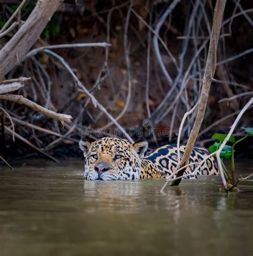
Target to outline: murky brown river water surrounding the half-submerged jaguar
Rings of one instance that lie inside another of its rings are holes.
[[[218,177],[163,194],[163,180],[84,181],[82,164],[0,167],[1,256],[253,254],[253,193],[220,193]]]

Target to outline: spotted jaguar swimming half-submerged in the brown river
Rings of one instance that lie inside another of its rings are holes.
[[[94,142],[80,140],[79,147],[85,157],[84,178],[89,180],[148,179],[165,178],[175,171],[178,163],[177,147],[166,145],[148,152],[146,141],[131,144],[128,140],[105,137]],[[185,146],[180,146],[183,156]],[[189,163],[200,162],[209,154],[204,147],[194,147]],[[185,170],[187,178],[198,175],[219,175],[214,157],[205,161],[196,174],[190,165]]]

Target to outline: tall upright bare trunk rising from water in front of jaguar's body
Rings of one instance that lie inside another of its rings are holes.
[[[219,34],[220,34],[220,28],[222,26],[222,18],[223,13],[225,9],[225,0],[217,0],[216,6],[215,6],[215,12],[214,12],[214,21],[212,24],[212,33],[210,38],[210,44],[209,44],[209,51],[208,51],[208,57],[207,57],[207,64],[205,66],[205,72],[204,72],[204,78],[203,78],[203,85],[202,85],[202,91],[200,95],[199,100],[199,106],[197,108],[197,115],[196,119],[193,125],[193,129],[191,131],[191,134],[189,135],[189,139],[186,144],[185,152],[183,155],[183,158],[181,160],[181,163],[179,165],[179,168],[186,165],[189,161],[189,157],[191,156],[192,149],[194,147],[197,134],[200,131],[201,124],[203,122],[205,109],[207,107],[207,101],[211,86],[212,78],[214,77],[215,70],[216,70],[216,53],[217,53],[217,46],[219,41]],[[182,176],[184,174],[185,169],[182,169],[177,173],[177,177]],[[172,186],[179,185],[181,179],[174,180],[172,182]]]

